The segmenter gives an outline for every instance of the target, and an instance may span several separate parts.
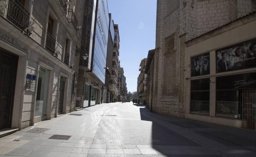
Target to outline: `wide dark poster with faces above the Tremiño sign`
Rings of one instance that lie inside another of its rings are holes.
[[[256,39],[216,51],[216,72],[256,67]]]

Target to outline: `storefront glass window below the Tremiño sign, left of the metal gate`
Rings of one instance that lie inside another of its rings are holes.
[[[241,118],[241,104],[239,101],[239,90],[217,91],[216,116]]]

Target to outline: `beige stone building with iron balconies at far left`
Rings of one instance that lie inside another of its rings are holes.
[[[75,108],[83,1],[0,1],[0,129]]]

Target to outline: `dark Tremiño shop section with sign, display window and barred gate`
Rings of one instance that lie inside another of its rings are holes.
[[[216,78],[216,116],[242,119],[244,128],[255,130],[256,73]]]

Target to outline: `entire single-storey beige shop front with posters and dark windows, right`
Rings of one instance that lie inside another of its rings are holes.
[[[255,24],[248,15],[186,42],[186,118],[256,130]]]

